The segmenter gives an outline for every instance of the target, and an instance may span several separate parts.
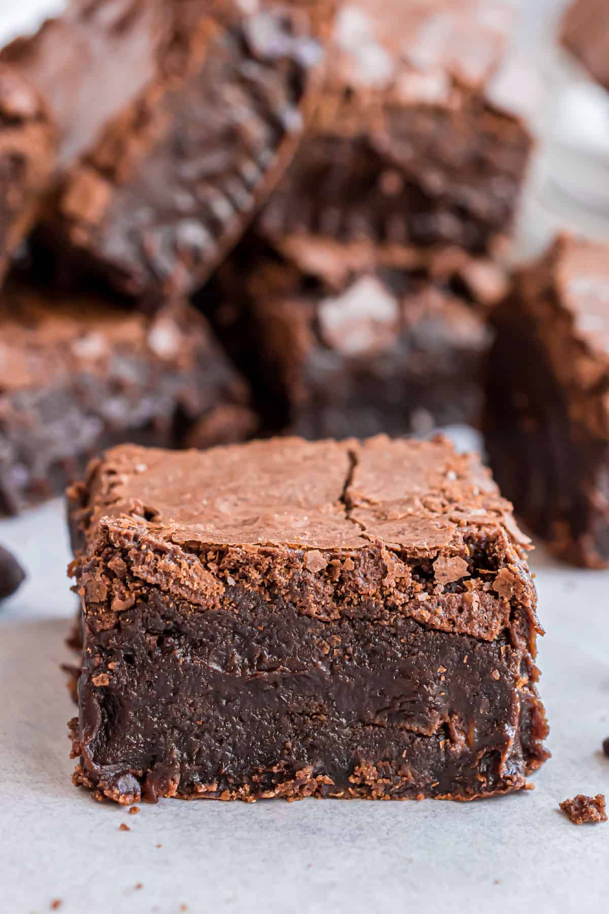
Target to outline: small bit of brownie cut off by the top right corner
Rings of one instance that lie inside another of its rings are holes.
[[[563,16],[561,41],[593,79],[609,89],[609,8],[605,0],[575,0]]]

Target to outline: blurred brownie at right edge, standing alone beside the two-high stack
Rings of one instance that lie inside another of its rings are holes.
[[[609,564],[609,246],[563,236],[492,315],[484,420],[501,490],[561,558]]]

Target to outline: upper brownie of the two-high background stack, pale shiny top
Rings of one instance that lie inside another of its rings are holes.
[[[344,0],[312,128],[259,228],[498,250],[530,154],[490,97],[510,21],[492,0]]]

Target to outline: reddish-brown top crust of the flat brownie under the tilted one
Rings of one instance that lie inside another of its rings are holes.
[[[125,356],[186,368],[207,338],[211,347],[205,319],[185,303],[147,318],[98,295],[49,296],[13,277],[0,295],[0,394],[104,372]]]

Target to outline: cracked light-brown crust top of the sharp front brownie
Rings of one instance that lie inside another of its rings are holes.
[[[515,560],[528,542],[476,455],[433,441],[281,438],[168,452],[123,445],[89,466],[81,523],[124,541],[410,555],[464,553],[472,531]]]

